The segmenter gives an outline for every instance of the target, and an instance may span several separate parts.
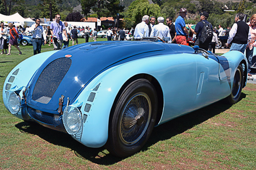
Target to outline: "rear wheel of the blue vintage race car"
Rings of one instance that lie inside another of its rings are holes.
[[[232,86],[232,92],[231,94],[227,97],[228,103],[229,104],[235,104],[238,102],[242,88],[243,88],[243,82],[244,82],[244,75],[243,75],[243,67],[241,65],[238,65],[235,75],[234,75],[234,81],[233,81],[233,86]]]

